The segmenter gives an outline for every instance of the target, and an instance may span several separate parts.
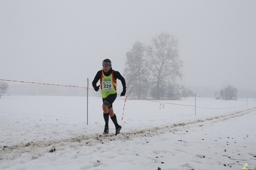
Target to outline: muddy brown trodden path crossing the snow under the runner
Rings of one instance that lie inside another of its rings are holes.
[[[33,154],[33,158],[38,158],[46,153],[55,151],[53,150],[53,148],[65,149],[65,146],[70,146],[71,148],[78,149],[83,146],[95,146],[96,144],[104,144],[110,141],[127,141],[135,139],[136,137],[152,137],[154,135],[187,130],[191,127],[202,127],[203,125],[207,125],[209,123],[218,123],[219,121],[230,120],[232,118],[243,116],[244,114],[249,114],[253,111],[256,111],[256,107],[243,111],[232,112],[230,114],[222,116],[214,116],[189,122],[175,123],[173,125],[163,125],[162,127],[152,127],[142,130],[134,130],[132,132],[121,132],[121,134],[117,136],[114,134],[79,135],[77,137],[59,139],[54,141],[35,141],[30,143],[15,144],[13,146],[3,146],[2,151],[0,151],[0,161],[14,160],[17,157],[21,157],[22,153],[31,153]],[[42,153],[40,153],[39,155],[36,154],[38,151]]]

